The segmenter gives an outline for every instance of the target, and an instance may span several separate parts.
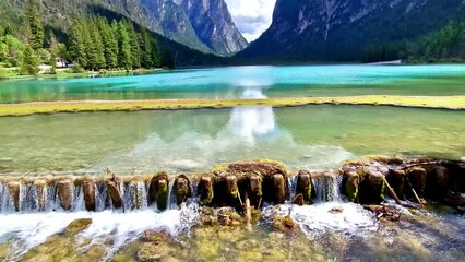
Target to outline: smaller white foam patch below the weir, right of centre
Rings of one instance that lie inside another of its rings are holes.
[[[279,215],[287,215],[290,205],[282,205]],[[333,209],[341,211],[330,212]],[[270,212],[265,210],[264,212]],[[343,237],[365,236],[378,230],[374,215],[354,203],[327,202],[315,205],[293,207],[291,217],[309,239],[327,233],[338,233]]]

